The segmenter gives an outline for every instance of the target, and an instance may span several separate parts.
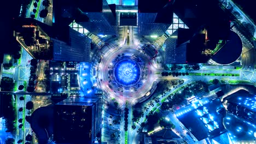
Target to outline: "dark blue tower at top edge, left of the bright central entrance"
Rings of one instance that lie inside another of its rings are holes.
[[[56,25],[75,20],[95,35],[118,35],[115,4],[108,5],[106,0],[64,0],[54,4]]]

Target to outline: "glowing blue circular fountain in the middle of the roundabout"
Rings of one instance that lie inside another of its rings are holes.
[[[139,80],[141,71],[136,62],[124,60],[116,65],[114,75],[118,82],[125,86],[132,85]]]

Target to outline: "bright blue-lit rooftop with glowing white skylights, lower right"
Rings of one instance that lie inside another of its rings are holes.
[[[177,118],[197,140],[218,136],[225,131],[222,124],[225,112],[220,112],[223,106],[218,98],[212,99],[206,104],[203,104],[201,100],[194,100],[191,103],[195,110],[184,113]]]

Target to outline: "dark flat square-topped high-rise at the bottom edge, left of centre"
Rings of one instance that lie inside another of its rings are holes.
[[[101,135],[101,98],[74,97],[54,108],[54,140],[58,143],[93,143]]]

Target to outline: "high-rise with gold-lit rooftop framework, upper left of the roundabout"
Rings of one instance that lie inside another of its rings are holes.
[[[91,39],[68,26],[48,26],[33,19],[16,21],[15,37],[37,59],[89,62]]]

